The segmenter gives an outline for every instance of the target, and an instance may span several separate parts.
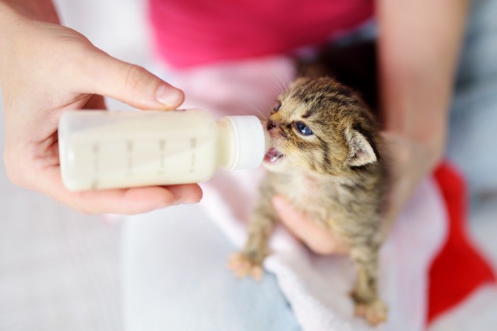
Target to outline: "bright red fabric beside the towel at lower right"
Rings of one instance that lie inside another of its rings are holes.
[[[430,269],[427,324],[464,301],[479,286],[495,282],[488,262],[466,236],[466,187],[462,177],[442,164],[435,179],[447,206],[448,234]]]

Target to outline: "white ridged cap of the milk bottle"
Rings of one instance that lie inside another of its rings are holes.
[[[261,165],[266,153],[266,135],[256,116],[226,116],[233,125],[235,150],[229,170],[251,169]]]

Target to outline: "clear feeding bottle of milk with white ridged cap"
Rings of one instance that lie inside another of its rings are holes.
[[[255,116],[216,122],[187,111],[68,111],[59,121],[62,181],[70,191],[187,184],[218,167],[258,167],[265,130]]]

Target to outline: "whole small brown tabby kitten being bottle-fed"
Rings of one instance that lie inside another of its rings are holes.
[[[262,276],[268,240],[278,220],[271,198],[280,194],[334,232],[356,266],[351,297],[356,315],[386,320],[378,297],[378,250],[387,172],[375,118],[358,94],[332,78],[300,78],[278,99],[267,120],[273,148],[244,249],[230,268]]]

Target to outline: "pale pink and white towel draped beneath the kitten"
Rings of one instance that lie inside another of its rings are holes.
[[[237,247],[246,237],[246,220],[257,194],[254,178],[260,176],[250,171],[222,172],[203,186],[203,208]],[[381,249],[380,293],[389,316],[374,330],[425,330],[427,274],[444,238],[445,217],[437,187],[425,181]],[[275,231],[271,248],[273,254],[264,266],[278,277],[303,330],[371,329],[353,315],[347,293],[354,270],[348,257],[312,254],[283,228]]]

